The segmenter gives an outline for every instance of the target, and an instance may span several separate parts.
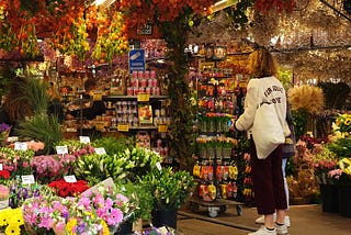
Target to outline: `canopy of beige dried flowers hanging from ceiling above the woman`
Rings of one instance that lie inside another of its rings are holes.
[[[288,15],[262,16],[251,12],[250,26],[241,29],[235,29],[228,15],[220,12],[194,30],[189,44],[227,44],[249,38],[270,47],[281,65],[293,68],[298,80],[340,79],[350,83],[350,0],[299,0]]]

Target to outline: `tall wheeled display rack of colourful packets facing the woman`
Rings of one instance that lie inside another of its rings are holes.
[[[193,175],[200,186],[190,199],[190,209],[197,212],[200,206],[205,206],[208,215],[216,217],[229,205],[235,205],[237,214],[241,215],[242,203],[235,201],[234,144],[228,141],[234,139],[229,136],[229,126],[236,97],[230,87],[236,80],[229,68],[217,68],[217,60],[213,59],[200,59],[197,74],[194,88],[197,94],[199,160]]]

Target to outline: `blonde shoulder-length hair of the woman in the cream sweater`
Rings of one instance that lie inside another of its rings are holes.
[[[254,78],[278,76],[278,64],[267,48],[259,47],[249,56],[248,70]]]

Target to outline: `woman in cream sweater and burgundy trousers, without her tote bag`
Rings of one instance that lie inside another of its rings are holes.
[[[288,234],[284,224],[285,210],[287,209],[282,174],[282,149],[279,145],[265,158],[257,157],[254,139],[251,128],[257,108],[262,102],[274,105],[279,123],[284,127],[286,118],[286,94],[283,85],[276,79],[278,65],[273,56],[265,48],[256,49],[249,58],[250,79],[245,99],[245,111],[234,124],[238,131],[248,131],[250,137],[250,155],[252,165],[252,181],[257,210],[264,215],[264,226],[251,235]],[[274,223],[273,213],[276,212]]]

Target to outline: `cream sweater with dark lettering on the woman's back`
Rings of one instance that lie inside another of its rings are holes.
[[[250,134],[256,110],[261,102],[274,103],[280,124],[284,130],[286,96],[284,87],[275,77],[250,79],[245,98],[245,111],[235,123],[237,130],[248,131]]]

